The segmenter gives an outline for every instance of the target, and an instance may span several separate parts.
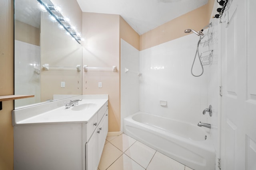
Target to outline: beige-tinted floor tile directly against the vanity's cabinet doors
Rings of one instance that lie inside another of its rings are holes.
[[[104,146],[102,156],[100,158],[100,164],[98,168],[100,170],[106,170],[115,160],[121,156],[123,152],[121,152],[119,149],[114,147],[111,143],[107,143]]]

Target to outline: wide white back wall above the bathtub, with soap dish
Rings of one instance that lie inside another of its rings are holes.
[[[141,111],[194,125],[201,120],[208,107],[209,65],[200,77],[190,74],[198,40],[196,34],[190,34],[140,52]],[[200,47],[200,52],[206,50]],[[200,74],[198,58],[195,63],[194,74]],[[160,106],[160,100],[166,100],[167,106]]]

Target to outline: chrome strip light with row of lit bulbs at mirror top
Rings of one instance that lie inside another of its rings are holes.
[[[50,17],[52,21],[56,22],[58,21],[60,29],[65,29],[69,35],[72,36],[79,44],[80,41],[82,41],[82,38],[80,37],[80,33],[76,32],[76,28],[74,26],[70,25],[70,19],[67,17],[62,16],[60,13],[61,9],[59,6],[54,6],[52,2],[49,4],[49,1],[47,1],[48,4],[43,2],[44,0],[37,0],[42,7],[40,7],[44,12],[48,11],[50,13]],[[45,11],[46,10],[46,11]]]

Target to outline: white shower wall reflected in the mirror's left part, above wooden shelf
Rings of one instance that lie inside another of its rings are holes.
[[[15,107],[40,102],[40,46],[15,40],[14,53],[14,94],[35,95],[15,100]]]

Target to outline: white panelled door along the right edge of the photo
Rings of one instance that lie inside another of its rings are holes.
[[[222,20],[221,169],[256,170],[256,1],[229,0]]]

